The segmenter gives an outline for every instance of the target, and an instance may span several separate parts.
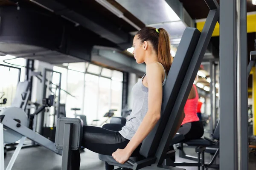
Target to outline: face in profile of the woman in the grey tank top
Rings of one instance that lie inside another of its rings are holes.
[[[134,54],[134,58],[136,59],[136,62],[138,64],[141,64],[144,62],[144,57],[145,57],[145,47],[144,46],[145,45],[143,45],[141,43],[140,39],[138,39],[138,37],[136,35],[134,37],[134,41],[133,41],[134,51],[132,54]]]

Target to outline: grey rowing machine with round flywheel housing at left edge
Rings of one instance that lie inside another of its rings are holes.
[[[50,99],[44,99],[43,105],[35,113],[31,114],[29,118],[22,108],[10,107],[0,112],[0,170],[4,170],[4,163],[2,164],[4,162],[4,143],[9,144],[20,141],[6,170],[12,169],[26,138],[59,155],[62,154],[62,150],[56,149],[54,142],[31,129],[35,115],[41,113],[46,107],[50,107],[51,103]]]

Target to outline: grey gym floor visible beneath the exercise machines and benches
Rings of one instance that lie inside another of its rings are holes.
[[[195,149],[185,148],[189,155],[196,156]],[[8,151],[5,158],[5,168],[10,161],[14,151]],[[249,170],[255,170],[256,157],[250,154]],[[209,162],[210,155],[206,153],[206,162]],[[181,159],[176,152],[176,161],[188,162],[190,160]],[[217,158],[218,163],[218,158]],[[105,170],[105,164],[98,159],[98,154],[90,150],[81,153],[81,170]],[[197,170],[197,167],[184,167],[186,170]],[[44,147],[31,147],[20,150],[12,170],[61,170],[61,156],[47,150]],[[212,169],[209,169],[212,170]]]

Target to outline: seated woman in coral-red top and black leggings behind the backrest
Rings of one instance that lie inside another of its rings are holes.
[[[184,107],[185,118],[178,130],[178,133],[184,135],[185,141],[199,139],[204,135],[204,126],[197,115],[198,99],[197,88],[193,85]]]

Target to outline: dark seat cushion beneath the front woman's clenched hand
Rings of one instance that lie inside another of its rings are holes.
[[[130,157],[130,159],[132,161],[134,161],[134,162],[140,161],[143,158],[144,158],[143,156]],[[117,167],[131,168],[132,169],[132,166],[130,164],[128,164],[128,163],[119,164],[115,159],[113,159],[112,156],[99,154],[99,159],[102,160],[102,161],[108,162],[108,164],[110,164],[110,165],[114,165],[114,166],[117,166]]]

